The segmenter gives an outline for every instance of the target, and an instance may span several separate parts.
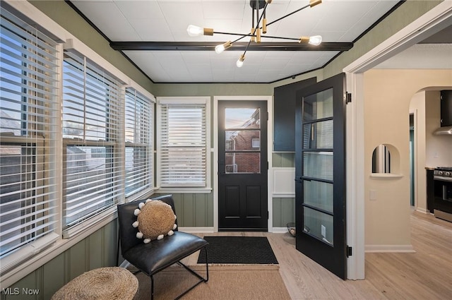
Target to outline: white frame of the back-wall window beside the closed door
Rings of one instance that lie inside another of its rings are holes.
[[[206,184],[200,186],[162,186],[162,106],[163,105],[188,105],[188,106],[205,106],[206,111]],[[164,193],[210,193],[212,191],[211,184],[211,150],[210,150],[210,97],[157,97],[157,188],[158,191]]]

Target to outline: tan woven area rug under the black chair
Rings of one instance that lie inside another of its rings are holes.
[[[192,266],[201,275],[206,266]],[[150,278],[142,273],[138,278],[136,300],[150,299]],[[174,299],[196,278],[180,267],[170,267],[155,275],[155,300]],[[225,265],[209,266],[209,280],[201,283],[184,300],[290,300],[278,265]]]

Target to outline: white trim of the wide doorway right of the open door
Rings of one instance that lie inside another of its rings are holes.
[[[347,91],[347,279],[364,279],[364,71],[452,24],[452,1],[443,1],[346,66]]]

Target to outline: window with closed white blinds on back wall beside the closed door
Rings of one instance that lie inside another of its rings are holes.
[[[210,188],[210,98],[161,98],[158,103],[160,187]]]

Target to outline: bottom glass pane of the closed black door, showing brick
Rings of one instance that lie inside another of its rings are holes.
[[[261,173],[261,153],[226,153],[225,172],[230,173]]]

